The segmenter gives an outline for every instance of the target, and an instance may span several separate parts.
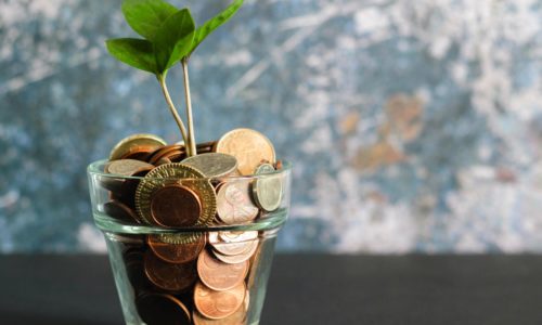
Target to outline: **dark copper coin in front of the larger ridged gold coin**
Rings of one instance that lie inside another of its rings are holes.
[[[151,216],[165,226],[191,226],[199,219],[202,204],[197,194],[182,185],[168,185],[151,197]]]

